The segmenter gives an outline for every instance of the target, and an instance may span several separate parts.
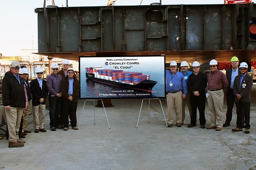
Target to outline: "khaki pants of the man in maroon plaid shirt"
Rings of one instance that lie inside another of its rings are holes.
[[[210,113],[210,125],[212,127],[223,127],[223,90],[210,91],[208,90],[209,97],[207,98],[209,113]]]

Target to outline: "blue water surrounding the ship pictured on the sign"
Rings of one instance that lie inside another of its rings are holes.
[[[143,71],[133,71],[142,72]],[[165,97],[165,77],[164,72],[147,71],[147,75],[150,75],[150,80],[156,81],[156,85],[153,87],[152,92],[144,92],[142,90],[134,90],[131,88],[116,87],[112,85],[95,82],[86,78],[85,71],[81,71],[81,98],[158,98]],[[114,92],[113,92],[114,91]],[[102,95],[111,94],[111,95]],[[114,95],[116,94],[116,95]],[[119,95],[123,94],[123,95]],[[135,95],[139,94],[139,95]],[[101,95],[101,96],[100,96]]]

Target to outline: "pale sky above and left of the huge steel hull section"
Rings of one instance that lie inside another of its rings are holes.
[[[54,0],[66,7],[66,0]],[[108,0],[68,0],[68,7],[106,6]],[[150,5],[160,0],[116,0],[116,6]],[[224,0],[162,0],[162,5],[224,4]],[[46,0],[46,6],[52,0]],[[3,56],[21,56],[21,49],[38,49],[37,13],[44,0],[0,0],[0,53]]]

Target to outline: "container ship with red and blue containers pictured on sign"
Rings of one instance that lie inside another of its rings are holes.
[[[85,70],[86,78],[117,87],[152,92],[152,88],[157,83],[150,80],[150,75],[143,75],[138,72],[126,72],[120,69],[105,69],[103,67],[88,67]]]

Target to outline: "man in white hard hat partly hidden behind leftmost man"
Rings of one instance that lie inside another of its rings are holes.
[[[32,99],[31,96],[31,92],[30,92],[30,86],[28,83],[28,69],[26,67],[22,68],[22,72],[23,74],[21,75],[21,78],[23,80],[23,82],[25,83],[25,87],[26,87],[26,94],[27,94],[27,98],[28,98],[28,103],[27,103],[27,108],[25,108],[23,110],[23,122],[22,122],[22,132],[21,134],[23,136],[27,135],[27,133],[31,133],[31,130],[27,129],[27,124],[28,124],[28,115],[29,115],[29,111],[30,111],[30,101]]]

